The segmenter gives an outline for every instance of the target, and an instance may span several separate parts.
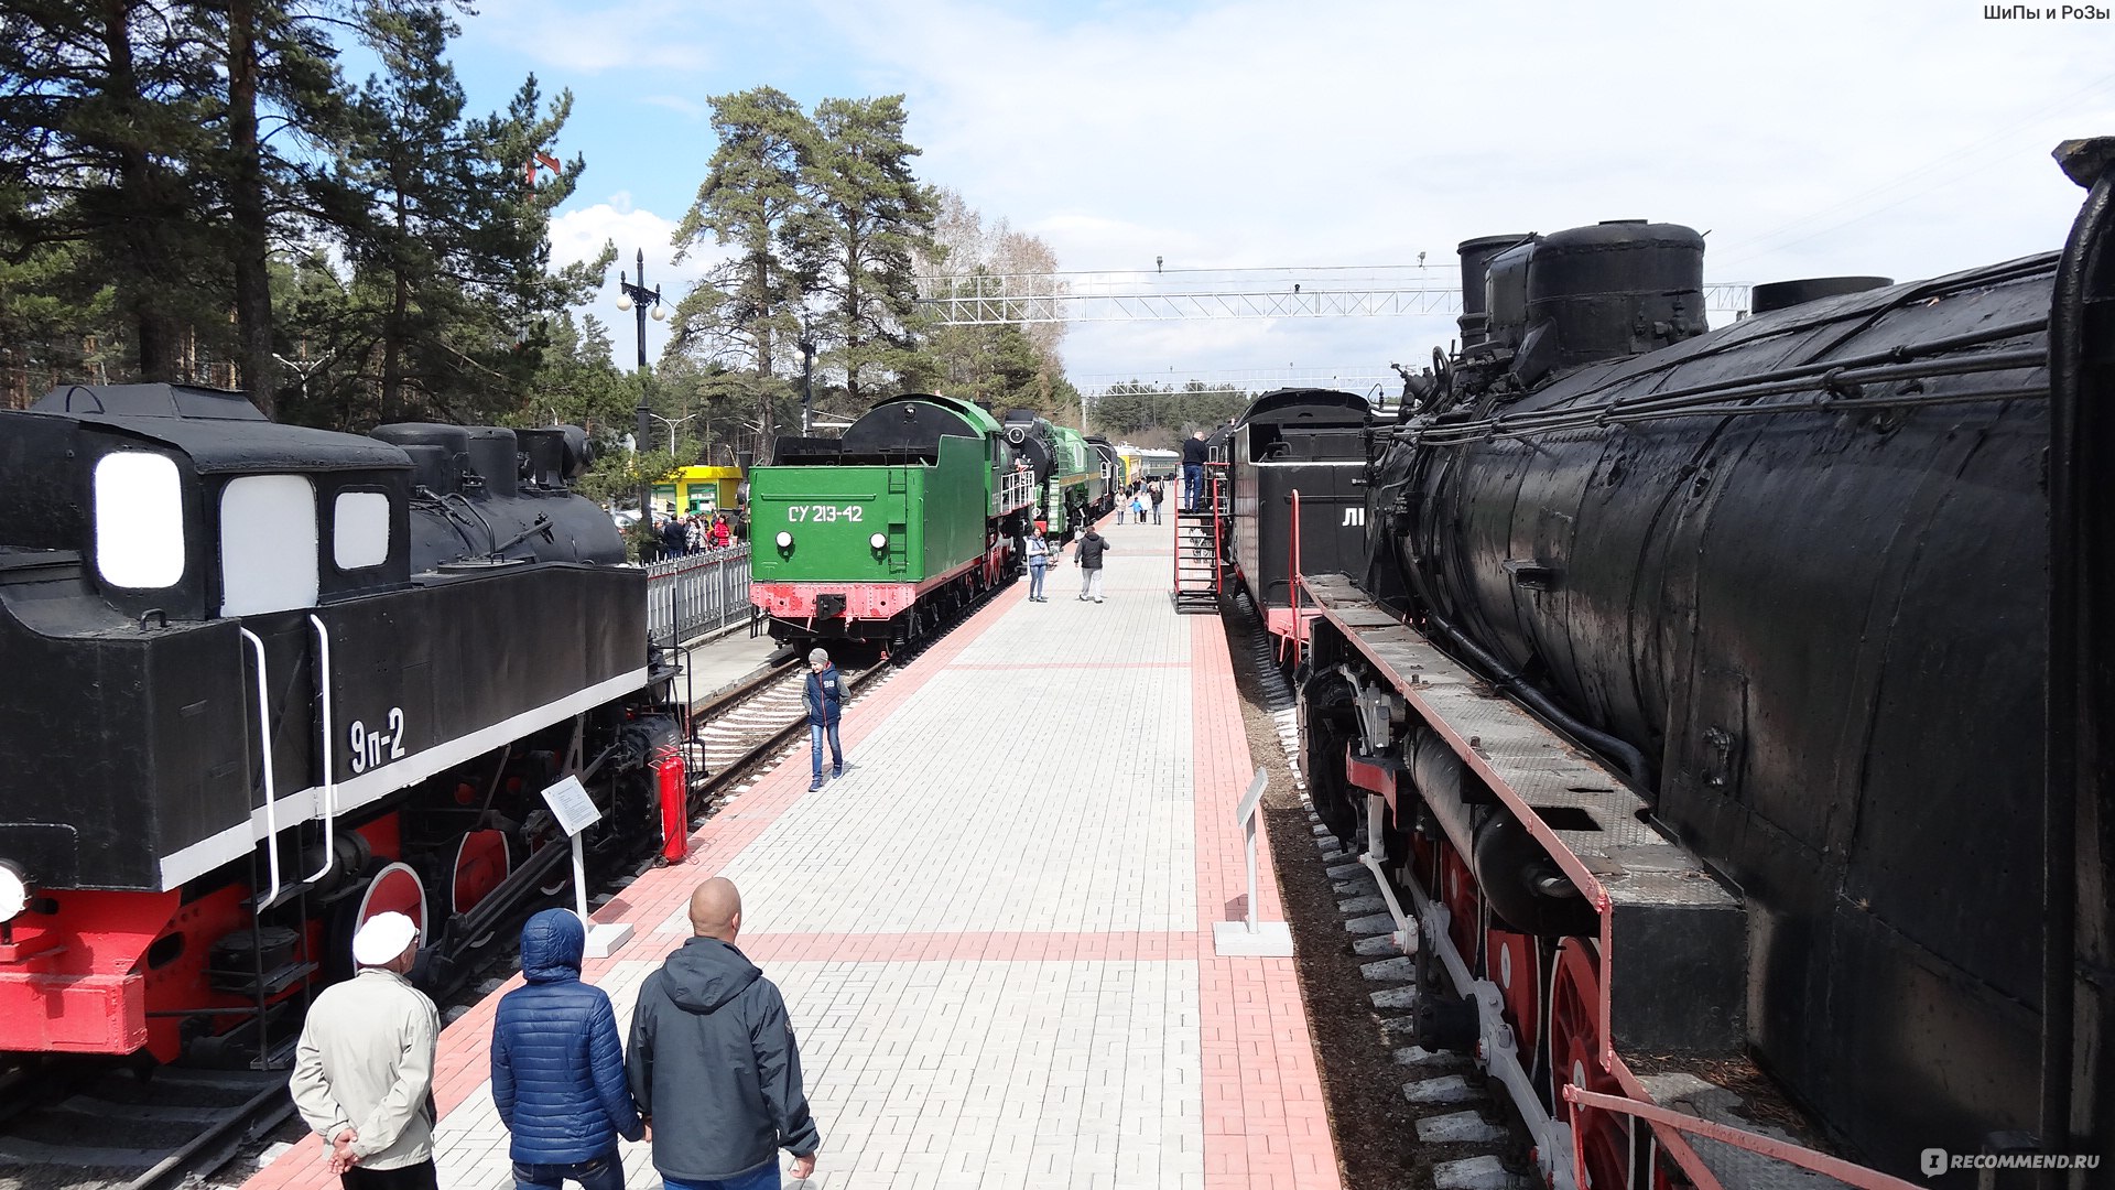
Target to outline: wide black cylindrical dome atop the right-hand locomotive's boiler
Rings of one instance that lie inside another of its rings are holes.
[[[1705,237],[1620,220],[1546,235],[1527,263],[1527,339],[1514,371],[1548,373],[1654,351],[1705,332]]]

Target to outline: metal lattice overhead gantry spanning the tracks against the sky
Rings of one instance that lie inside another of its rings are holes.
[[[1461,313],[1455,271],[1426,265],[977,273],[918,292],[943,326]],[[1705,307],[1747,313],[1749,286],[1705,286]]]

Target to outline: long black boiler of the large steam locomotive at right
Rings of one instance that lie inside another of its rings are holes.
[[[1681,275],[1508,330],[1510,265],[1485,362],[1383,440],[1368,578],[1645,754],[1747,902],[1753,1052],[1829,1131],[1914,1169],[2033,1129],[2054,256],[1616,358],[1593,326],[1684,332]],[[1897,371],[1829,375],[1861,360]]]

